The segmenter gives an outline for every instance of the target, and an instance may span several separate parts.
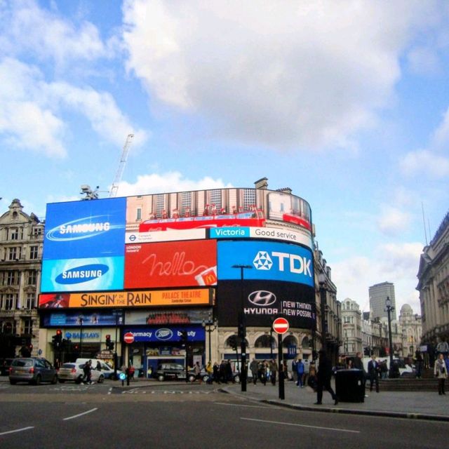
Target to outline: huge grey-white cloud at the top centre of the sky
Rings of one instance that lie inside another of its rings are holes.
[[[268,147],[350,145],[388,105],[419,1],[127,0],[128,69],[154,99],[220,137]]]

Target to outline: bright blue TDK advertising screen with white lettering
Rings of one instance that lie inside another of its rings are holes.
[[[240,279],[235,265],[248,265],[244,279],[286,281],[314,286],[311,250],[274,241],[218,241],[218,279]]]

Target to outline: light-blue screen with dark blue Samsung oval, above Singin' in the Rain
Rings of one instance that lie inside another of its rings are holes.
[[[121,290],[123,256],[43,260],[42,292]]]

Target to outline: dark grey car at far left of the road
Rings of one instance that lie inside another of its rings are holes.
[[[45,358],[19,357],[14,358],[9,368],[9,382],[28,382],[39,385],[41,382],[58,382],[58,371]]]

